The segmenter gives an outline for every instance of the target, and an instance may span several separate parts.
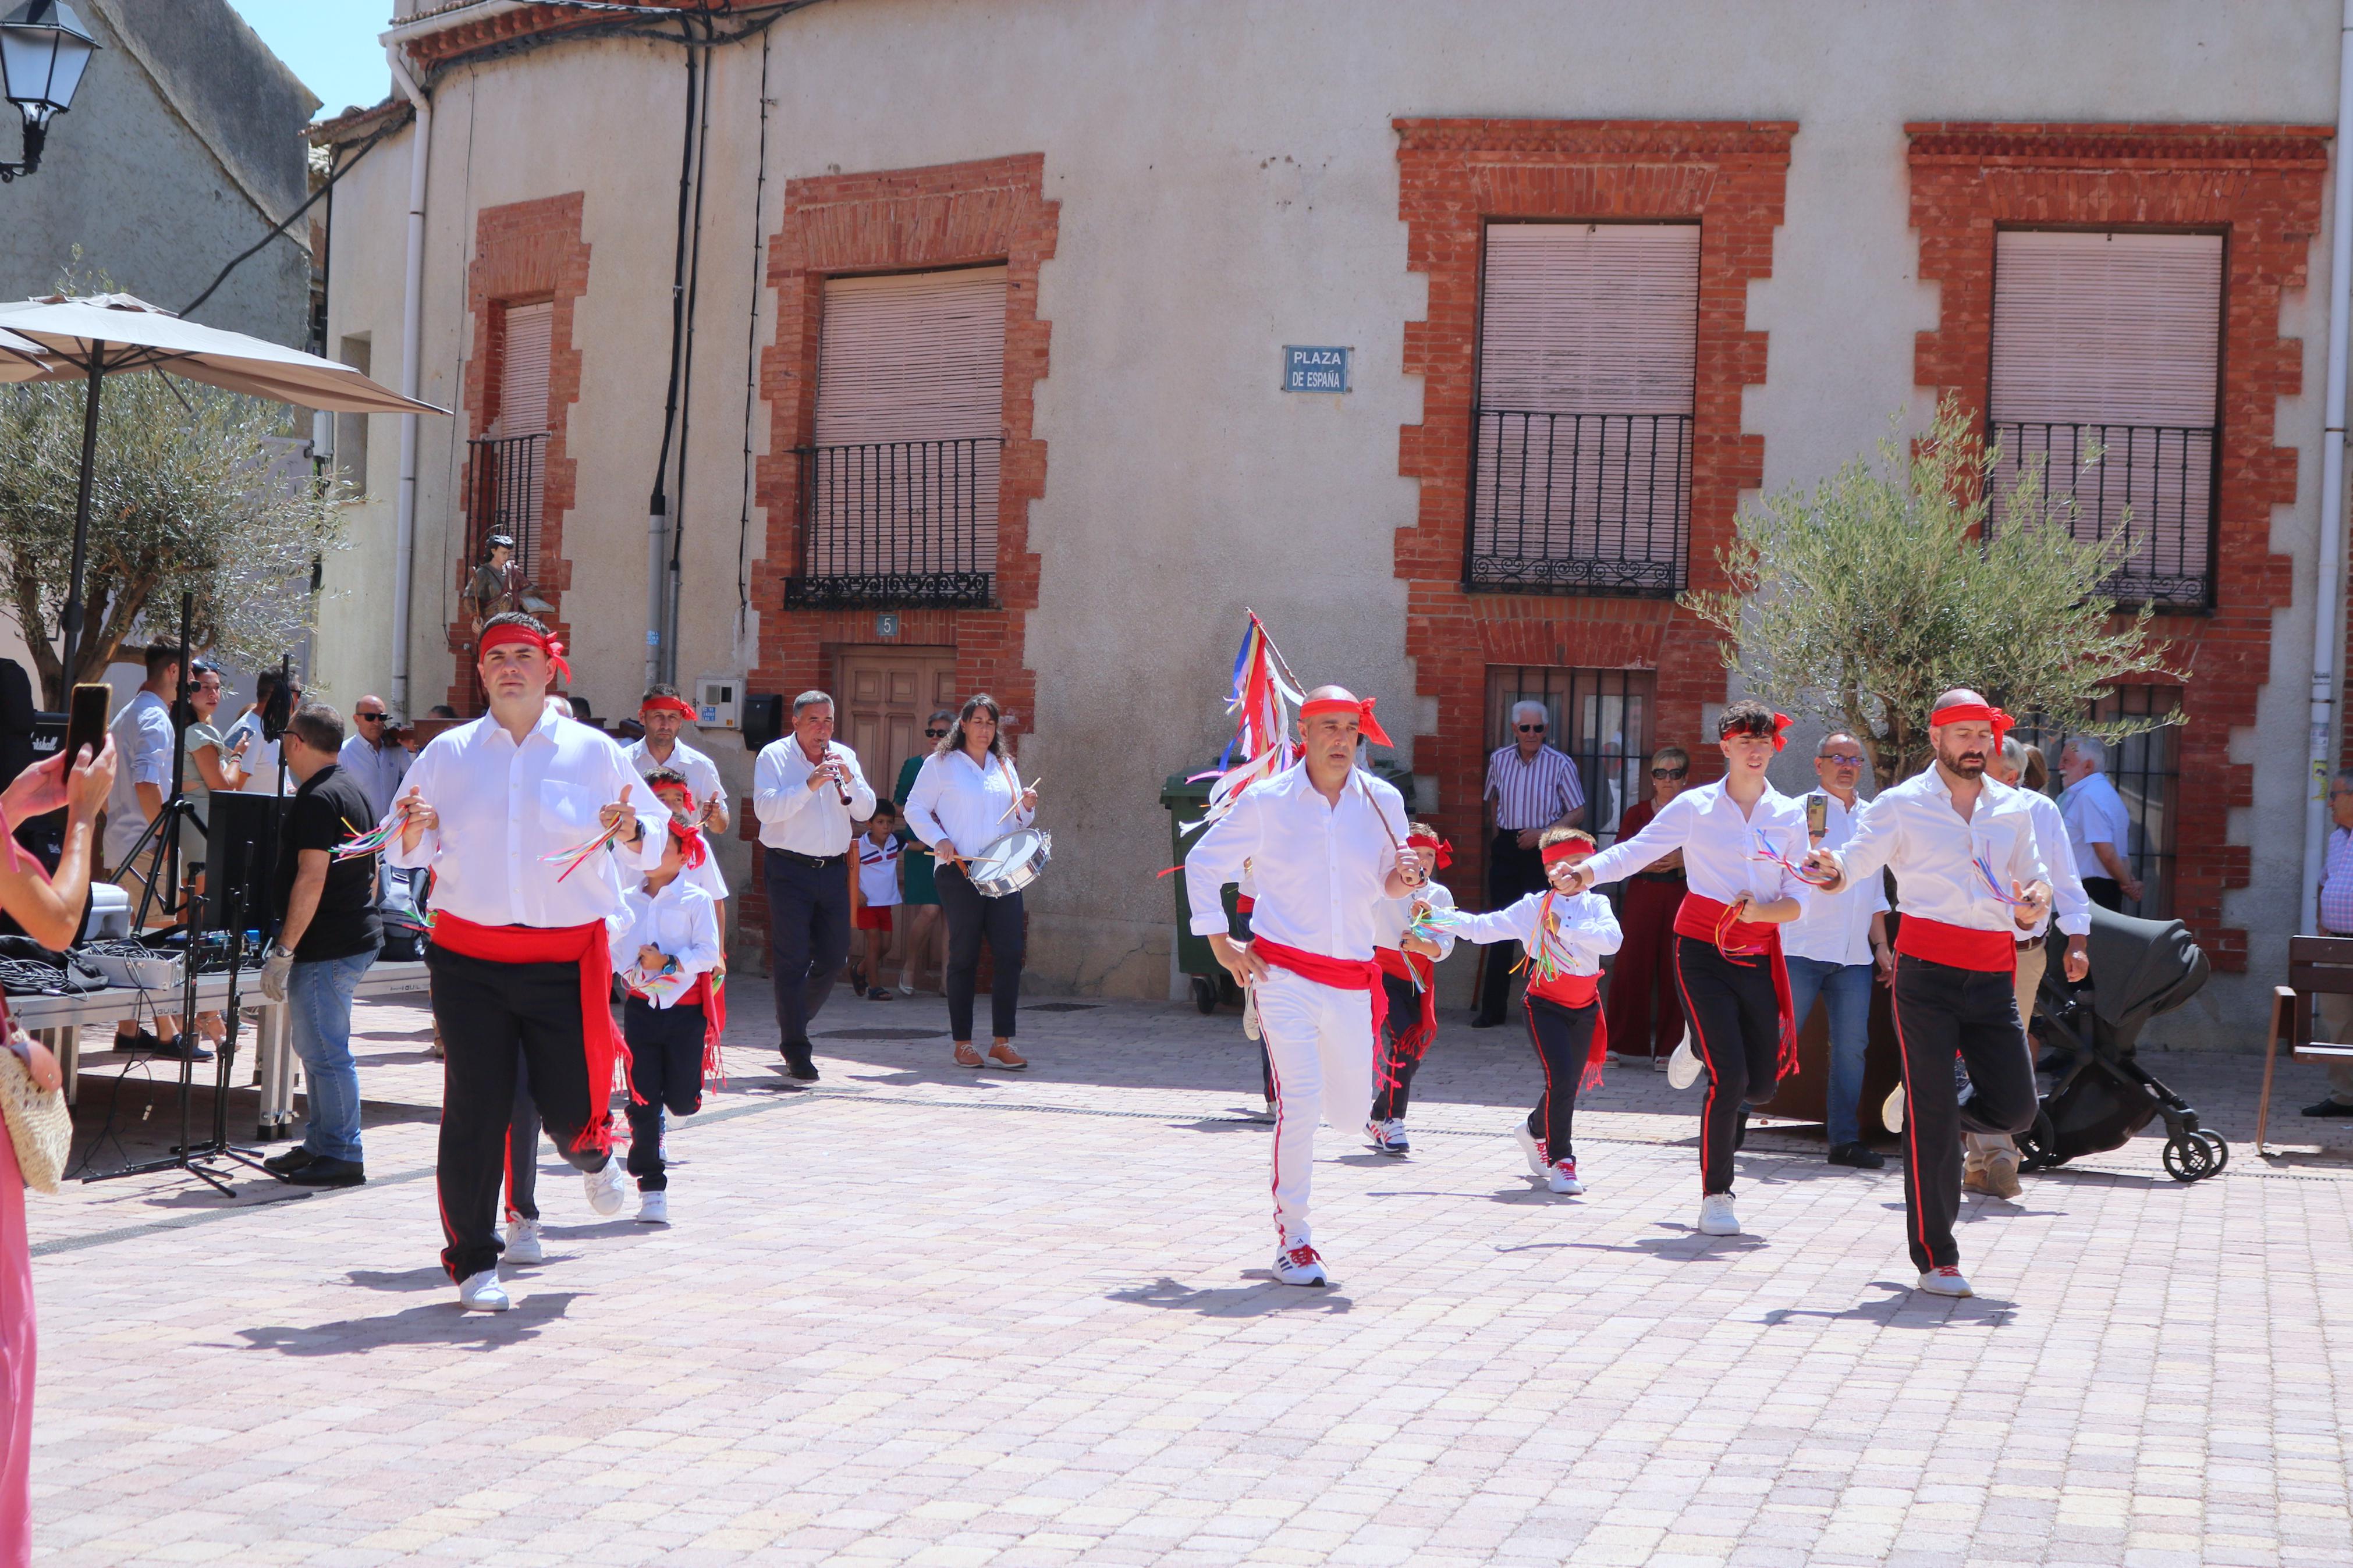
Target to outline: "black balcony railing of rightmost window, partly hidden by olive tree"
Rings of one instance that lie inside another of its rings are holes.
[[[1995,529],[2007,524],[2009,487],[2042,465],[2052,498],[2073,496],[2075,538],[2129,529],[2132,543],[2104,583],[2122,607],[2214,607],[2214,425],[2111,425],[2092,421],[1993,421]]]

